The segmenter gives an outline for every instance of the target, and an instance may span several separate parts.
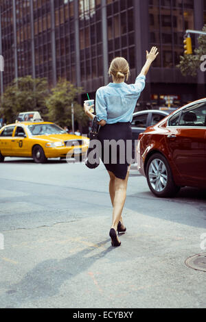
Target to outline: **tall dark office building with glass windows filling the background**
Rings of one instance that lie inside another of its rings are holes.
[[[204,23],[206,0],[0,0],[1,93],[15,77],[47,77],[51,86],[62,77],[84,88],[83,101],[110,82],[115,56],[128,60],[134,82],[155,45],[160,54],[139,102],[203,97],[205,73],[183,77],[176,64],[185,29]]]

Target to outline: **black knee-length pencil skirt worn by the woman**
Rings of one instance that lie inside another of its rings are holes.
[[[131,164],[132,138],[131,123],[106,124],[100,127],[100,158],[106,170],[119,179],[126,178],[128,166]]]

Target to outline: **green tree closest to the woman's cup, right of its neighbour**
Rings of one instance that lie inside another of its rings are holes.
[[[61,127],[65,125],[71,127],[71,103],[73,103],[74,120],[83,126],[86,125],[88,118],[85,116],[82,106],[76,101],[76,97],[81,92],[81,87],[75,87],[71,82],[59,79],[47,99],[49,121],[55,122]]]

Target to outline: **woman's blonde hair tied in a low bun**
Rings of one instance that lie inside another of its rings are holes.
[[[128,80],[130,68],[126,59],[123,57],[114,58],[109,67],[108,74],[115,77],[115,79],[126,77],[126,80]]]

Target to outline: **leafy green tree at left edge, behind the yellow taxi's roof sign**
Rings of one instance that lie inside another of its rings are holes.
[[[8,123],[14,122],[19,112],[38,111],[44,116],[47,113],[45,101],[48,95],[46,78],[33,79],[30,75],[16,78],[5,88],[1,97],[2,113]]]

